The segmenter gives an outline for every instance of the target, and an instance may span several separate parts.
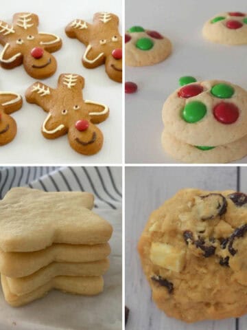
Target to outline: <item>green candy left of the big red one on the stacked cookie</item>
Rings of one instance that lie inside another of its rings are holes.
[[[199,122],[207,113],[207,107],[200,101],[192,101],[185,105],[182,111],[182,118],[185,122]]]

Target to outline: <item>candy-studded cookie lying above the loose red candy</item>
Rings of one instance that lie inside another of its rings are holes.
[[[126,65],[154,65],[169,56],[172,43],[157,31],[132,26],[125,35]]]

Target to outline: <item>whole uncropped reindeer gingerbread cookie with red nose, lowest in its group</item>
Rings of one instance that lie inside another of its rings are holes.
[[[106,105],[84,100],[84,78],[77,74],[61,74],[57,89],[36,82],[26,91],[27,102],[38,104],[48,112],[42,126],[47,139],[56,139],[68,133],[69,144],[78,153],[93,155],[103,144],[103,134],[95,126],[106,120]]]

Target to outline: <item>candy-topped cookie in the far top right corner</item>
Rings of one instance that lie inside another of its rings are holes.
[[[244,45],[247,43],[247,14],[244,12],[217,14],[204,24],[202,34],[205,39],[214,43]]]

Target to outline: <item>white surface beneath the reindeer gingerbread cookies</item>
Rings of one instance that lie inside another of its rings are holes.
[[[43,83],[54,88],[60,74],[80,74],[85,78],[84,99],[107,104],[110,116],[98,125],[104,135],[104,145],[96,155],[85,156],[74,151],[69,146],[67,135],[47,140],[41,133],[41,125],[47,113],[36,104],[28,104],[24,97],[27,87],[36,80],[27,75],[23,66],[11,70],[0,67],[0,91],[19,93],[24,102],[23,108],[12,115],[18,131],[13,142],[1,146],[1,163],[121,163],[121,84],[108,78],[104,65],[95,69],[83,67],[81,58],[86,47],[76,39],[69,39],[64,32],[64,28],[73,19],[84,19],[91,23],[93,14],[100,11],[117,14],[122,23],[121,0],[8,0],[2,6],[0,19],[3,21],[11,23],[15,12],[34,12],[40,19],[40,32],[57,34],[62,38],[61,50],[54,53],[58,62],[56,74],[42,80]]]

